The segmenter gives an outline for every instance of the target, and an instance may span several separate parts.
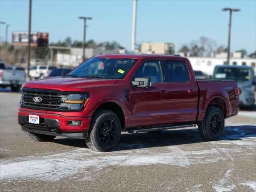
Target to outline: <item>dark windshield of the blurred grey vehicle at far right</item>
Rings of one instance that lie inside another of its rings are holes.
[[[214,72],[214,78],[234,81],[250,81],[252,79],[252,71],[248,68],[217,68]]]

